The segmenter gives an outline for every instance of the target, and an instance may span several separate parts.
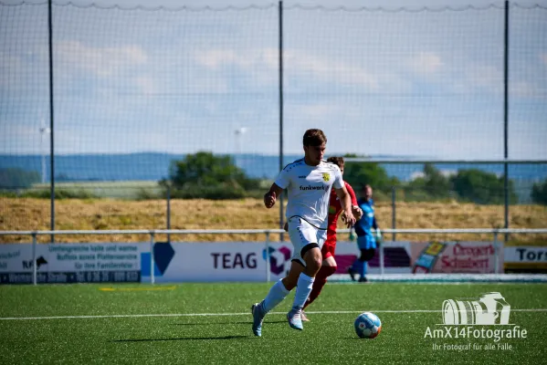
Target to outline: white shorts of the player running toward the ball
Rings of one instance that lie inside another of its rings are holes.
[[[300,264],[306,266],[304,258],[301,256],[302,249],[307,245],[317,244],[321,250],[327,239],[327,230],[319,229],[300,217],[293,216],[289,218],[289,237],[294,247],[292,260],[298,260]]]

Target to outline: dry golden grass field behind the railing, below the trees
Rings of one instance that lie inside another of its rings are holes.
[[[165,229],[166,203],[113,199],[58,200],[56,229]],[[171,203],[173,229],[261,229],[278,228],[279,207],[266,209],[261,200],[237,201],[174,200]],[[377,203],[376,216],[383,228],[392,225],[391,203]],[[50,203],[47,199],[0,198],[0,230],[47,230]],[[339,222],[339,226],[342,224]],[[503,206],[472,203],[404,203],[396,205],[397,228],[492,228],[503,226]],[[510,227],[547,227],[547,207],[510,206]],[[176,241],[263,241],[264,235],[177,235]],[[339,239],[346,239],[342,235]],[[391,239],[386,235],[385,239]],[[41,236],[40,242],[47,242]],[[158,236],[156,240],[164,240]],[[279,236],[272,236],[278,240]],[[287,238],[286,238],[287,239]],[[397,240],[491,240],[491,235],[397,235]],[[547,241],[547,235],[513,235],[521,242]],[[28,242],[29,236],[0,236],[0,242]],[[56,242],[143,242],[148,235],[63,235]]]

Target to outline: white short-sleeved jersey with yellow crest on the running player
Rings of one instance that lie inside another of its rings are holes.
[[[304,159],[289,163],[275,181],[289,192],[287,219],[299,216],[321,229],[327,229],[331,188],[344,186],[340,168],[331,162],[321,161],[310,166]]]

